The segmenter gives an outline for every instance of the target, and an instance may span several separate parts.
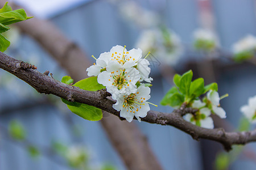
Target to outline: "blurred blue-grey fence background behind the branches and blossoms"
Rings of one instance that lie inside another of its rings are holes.
[[[193,79],[203,77],[206,84],[217,82],[219,94],[229,94],[221,100],[227,118],[213,117],[216,128],[228,131],[255,128],[241,123],[240,107],[256,95],[255,55],[248,57],[241,50],[250,46],[250,42],[244,42],[246,37],[254,42],[256,49],[256,1],[14,2],[35,18],[51,21],[87,56],[97,58],[115,45],[126,45],[127,50],[141,48],[143,56],[150,51],[147,59],[154,79],[150,102],[158,104],[152,110],[172,112],[171,107],[161,106],[160,100],[173,86],[175,73],[192,69]],[[11,46],[6,54],[34,64],[41,73],[49,70],[57,80],[67,75],[51,54],[19,27],[13,25],[7,33]],[[92,57],[87,59],[94,62]],[[80,70],[87,75],[86,67]],[[219,143],[194,141],[170,126],[134,122],[146,135],[163,169],[256,167],[255,143],[234,147],[226,154]],[[99,122],[82,119],[70,112],[58,97],[38,94],[22,80],[1,70],[0,169],[126,167]]]

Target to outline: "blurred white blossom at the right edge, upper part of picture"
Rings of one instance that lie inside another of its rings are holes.
[[[235,54],[248,50],[256,50],[256,37],[253,35],[247,35],[233,45]]]

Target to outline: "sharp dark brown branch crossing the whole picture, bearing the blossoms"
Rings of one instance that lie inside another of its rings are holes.
[[[115,101],[106,98],[105,90],[93,92],[81,90],[79,87],[69,86],[51,78],[51,76],[39,73],[39,71],[36,71],[36,67],[31,67],[30,64],[14,59],[4,53],[0,53],[0,68],[24,80],[24,82],[30,84],[30,86],[34,87],[41,94],[53,94],[68,101],[92,105],[120,118],[119,112],[115,111],[112,107]],[[256,130],[226,132],[222,128],[205,129],[193,125],[182,118],[182,115],[187,112],[187,109],[189,108],[185,108],[185,105],[183,105],[180,109],[176,109],[172,113],[149,111],[147,116],[142,118],[142,121],[151,124],[174,126],[191,135],[196,140],[204,138],[220,142],[226,151],[231,150],[232,145],[245,145],[246,143],[256,141]]]

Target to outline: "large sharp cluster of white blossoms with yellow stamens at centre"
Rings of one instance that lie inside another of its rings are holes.
[[[117,100],[113,108],[120,111],[120,116],[131,122],[133,117],[146,117],[150,110],[150,88],[141,83],[151,83],[149,62],[142,58],[141,49],[126,50],[114,46],[110,52],[100,54],[96,63],[90,66],[88,76],[98,76],[98,83],[106,86],[112,98]]]

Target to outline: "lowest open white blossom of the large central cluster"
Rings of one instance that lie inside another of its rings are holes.
[[[113,108],[120,111],[120,116],[126,118],[128,122],[131,122],[134,116],[141,122],[140,117],[146,117],[147,112],[150,111],[146,102],[148,99],[150,99],[150,88],[142,84],[133,94],[118,94],[115,98],[117,103],[113,105]]]

